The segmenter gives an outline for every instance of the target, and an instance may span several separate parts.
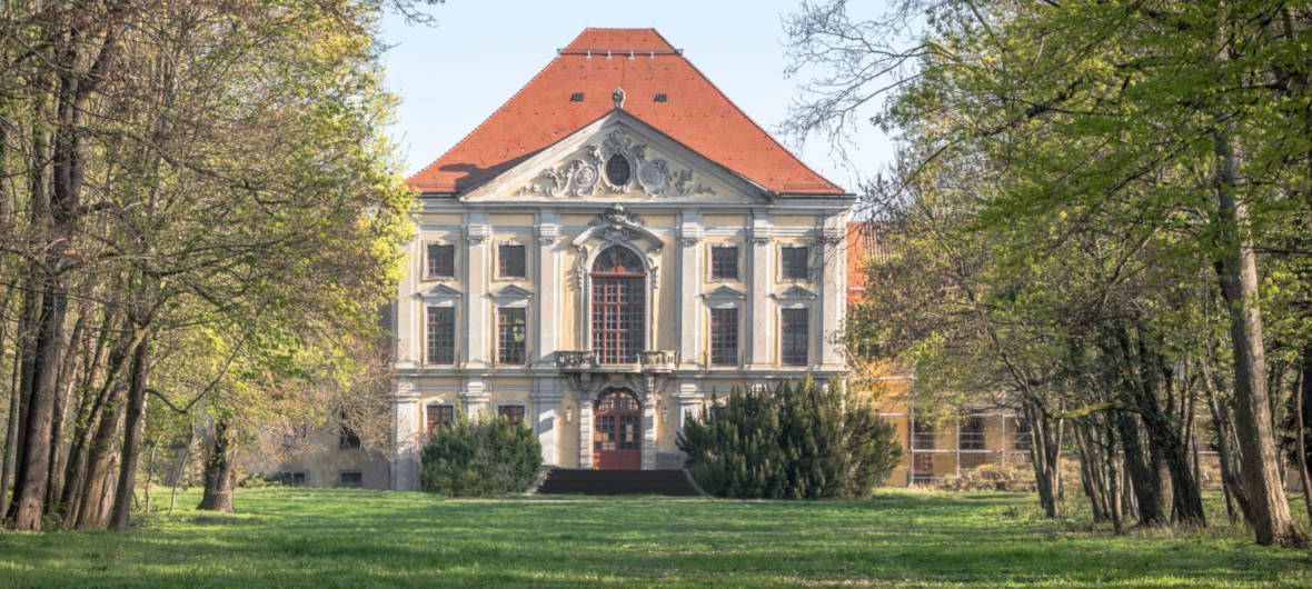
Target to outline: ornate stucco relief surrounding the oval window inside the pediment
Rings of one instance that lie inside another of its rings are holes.
[[[625,157],[636,171],[625,184],[611,184],[602,168],[611,156]],[[516,190],[516,194],[544,197],[592,197],[602,194],[628,194],[640,188],[652,197],[684,198],[693,194],[715,194],[710,186],[697,181],[693,171],[676,169],[661,157],[647,159],[647,146],[635,142],[627,132],[614,129],[600,144],[588,146],[584,153],[556,168],[543,169],[534,181]]]

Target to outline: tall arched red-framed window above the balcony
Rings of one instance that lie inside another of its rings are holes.
[[[647,269],[622,245],[592,264],[592,349],[601,363],[635,363],[647,321]]]

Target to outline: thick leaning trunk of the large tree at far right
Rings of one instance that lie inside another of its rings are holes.
[[[1235,353],[1235,433],[1244,462],[1240,468],[1253,516],[1257,543],[1304,547],[1281,485],[1275,436],[1271,428],[1270,397],[1266,391],[1266,350],[1262,344],[1262,315],[1258,299],[1257,258],[1249,232],[1248,209],[1235,193],[1239,185],[1239,157],[1231,138],[1216,131],[1218,224],[1225,253],[1218,264],[1221,293],[1229,308],[1229,331]]]

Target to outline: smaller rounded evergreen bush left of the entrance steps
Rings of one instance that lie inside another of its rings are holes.
[[[461,415],[433,432],[420,455],[422,488],[449,497],[522,493],[542,467],[542,445],[527,424]]]

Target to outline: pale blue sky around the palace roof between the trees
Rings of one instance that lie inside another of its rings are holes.
[[[804,80],[785,79],[781,18],[799,0],[665,0],[659,3],[564,0],[447,0],[429,8],[438,25],[383,24],[387,87],[401,104],[392,136],[412,173],[454,146],[514,94],[588,26],[655,28],[753,121],[774,132]],[[830,156],[823,138],[799,152],[829,180],[855,192],[891,159],[875,129],[850,152],[859,171]]]

